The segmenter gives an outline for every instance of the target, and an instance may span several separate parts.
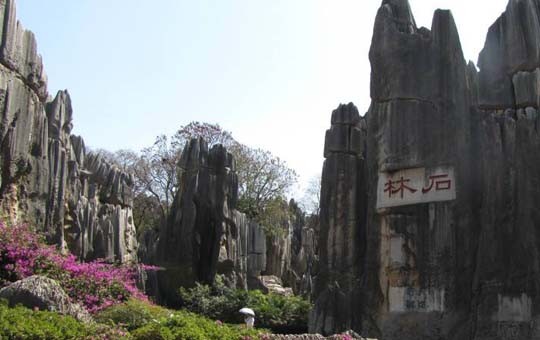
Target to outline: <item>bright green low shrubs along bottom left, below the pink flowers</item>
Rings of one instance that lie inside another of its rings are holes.
[[[0,339],[255,340],[267,333],[136,299],[100,311],[96,321],[84,324],[54,312],[9,308],[0,301]]]

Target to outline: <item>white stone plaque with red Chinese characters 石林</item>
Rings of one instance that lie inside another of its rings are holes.
[[[379,174],[377,209],[456,199],[454,168],[414,168]]]

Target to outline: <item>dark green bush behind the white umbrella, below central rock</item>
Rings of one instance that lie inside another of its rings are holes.
[[[216,280],[214,287],[197,284],[194,288],[180,288],[183,306],[197,314],[229,323],[243,322],[238,311],[252,308],[256,326],[276,333],[303,333],[307,331],[311,304],[295,296],[263,294],[261,291],[231,289]]]

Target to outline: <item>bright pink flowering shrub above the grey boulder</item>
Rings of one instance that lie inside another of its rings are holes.
[[[75,301],[95,313],[129,297],[147,300],[136,287],[137,268],[62,255],[28,225],[0,222],[0,287],[31,275],[57,280]]]

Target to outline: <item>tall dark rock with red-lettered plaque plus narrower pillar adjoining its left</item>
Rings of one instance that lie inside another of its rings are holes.
[[[450,11],[418,28],[407,1],[383,1],[369,57],[371,107],[349,127],[362,151],[326,155],[312,330],[445,338],[469,311],[473,276],[462,256],[473,254],[470,71]],[[338,129],[333,119],[327,144]]]

